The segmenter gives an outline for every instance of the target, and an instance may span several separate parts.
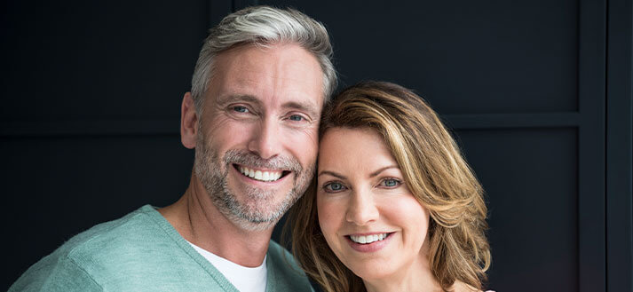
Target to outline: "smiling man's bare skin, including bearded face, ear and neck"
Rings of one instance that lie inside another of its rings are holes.
[[[202,107],[190,92],[181,140],[196,148],[182,198],[159,211],[187,241],[245,266],[262,264],[273,226],[312,178],[322,107],[322,73],[296,44],[241,46],[218,56]],[[233,164],[285,170],[274,182]]]

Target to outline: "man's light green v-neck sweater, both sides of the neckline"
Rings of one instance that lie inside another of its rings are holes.
[[[270,241],[266,292],[312,291],[289,252]],[[154,209],[96,225],[32,265],[14,291],[239,292]]]

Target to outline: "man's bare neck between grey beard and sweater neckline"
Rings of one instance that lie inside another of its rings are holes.
[[[247,231],[233,224],[213,204],[195,175],[180,200],[158,211],[186,241],[202,249],[243,266],[255,267],[264,261],[274,226]]]

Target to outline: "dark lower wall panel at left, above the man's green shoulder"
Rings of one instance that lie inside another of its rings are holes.
[[[174,136],[0,138],[0,153],[4,290],[76,233],[175,201],[194,159]]]

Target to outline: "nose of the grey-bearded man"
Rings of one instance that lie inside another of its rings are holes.
[[[249,141],[249,151],[264,159],[281,152],[281,127],[273,119],[265,119],[257,127]]]

